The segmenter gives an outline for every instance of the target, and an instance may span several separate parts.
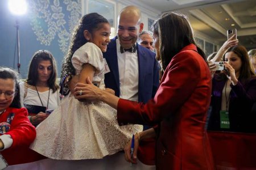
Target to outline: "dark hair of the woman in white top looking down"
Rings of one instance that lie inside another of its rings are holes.
[[[28,75],[26,82],[32,86],[36,86],[38,82],[38,65],[41,61],[49,60],[52,65],[52,73],[47,81],[49,88],[55,92],[59,85],[56,82],[57,79],[57,66],[56,61],[53,58],[52,54],[48,50],[39,50],[35,52],[34,56],[31,59],[30,67],[28,69]]]

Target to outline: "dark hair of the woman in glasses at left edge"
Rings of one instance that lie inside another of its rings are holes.
[[[21,108],[20,104],[20,97],[19,97],[19,74],[18,72],[5,68],[0,67],[0,79],[13,79],[15,82],[15,96],[13,102],[11,103],[11,108]]]

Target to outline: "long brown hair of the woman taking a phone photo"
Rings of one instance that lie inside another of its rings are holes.
[[[233,52],[237,54],[237,56],[241,59],[242,65],[240,68],[240,76],[239,80],[243,83],[250,80],[252,76],[255,76],[254,69],[250,64],[249,55],[247,53],[247,50],[242,45],[235,45],[230,47],[228,50],[226,50],[225,54],[228,52]],[[223,57],[225,57],[225,54]]]

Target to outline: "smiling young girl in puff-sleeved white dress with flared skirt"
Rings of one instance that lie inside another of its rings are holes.
[[[105,89],[102,52],[106,52],[109,35],[110,25],[103,16],[83,16],[65,57],[62,77],[79,75],[79,82],[85,83],[89,76],[93,84]],[[119,126],[117,111],[109,105],[79,101],[69,92],[38,125],[31,148],[52,159],[101,159],[123,150],[129,138],[139,131],[141,125]]]

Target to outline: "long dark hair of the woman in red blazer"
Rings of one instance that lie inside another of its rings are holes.
[[[159,36],[160,58],[165,70],[172,57],[180,52],[185,46],[195,44],[193,31],[185,15],[179,12],[167,12],[160,16],[152,24],[155,35]],[[203,50],[197,46],[197,52],[207,62],[207,57]]]

